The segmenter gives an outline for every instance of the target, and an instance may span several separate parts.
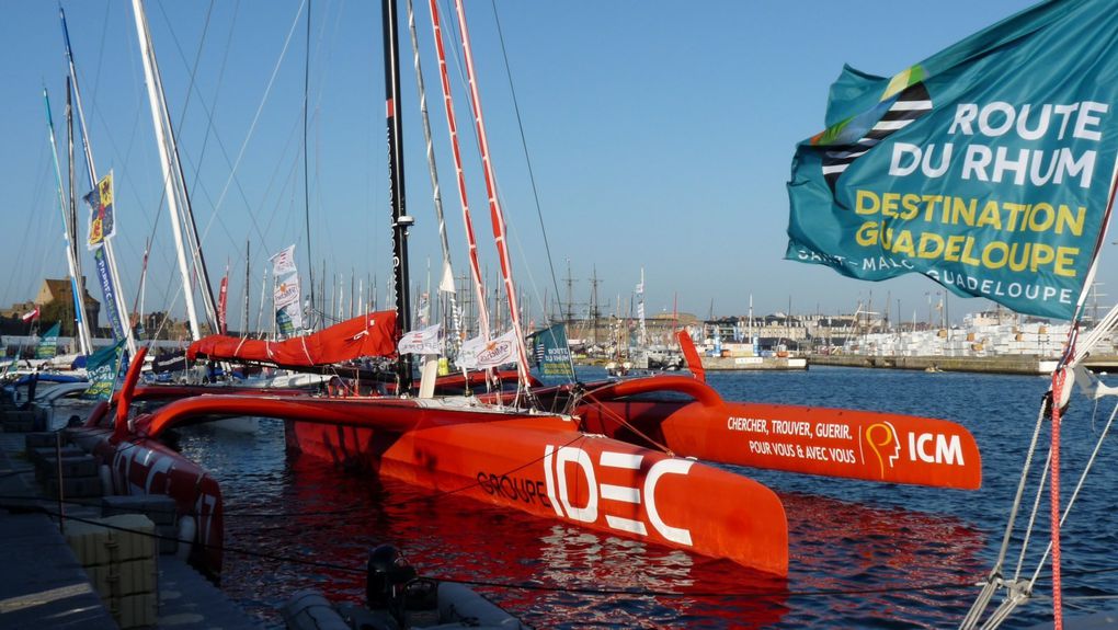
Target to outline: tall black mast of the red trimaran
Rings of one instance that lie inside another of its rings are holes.
[[[392,280],[396,288],[397,338],[411,330],[411,300],[408,286],[408,228],[414,219],[407,214],[404,199],[404,124],[399,116],[400,59],[396,0],[382,0],[385,30],[385,116],[388,128],[388,194],[392,204]],[[411,355],[401,354],[397,371],[400,391],[411,388]]]

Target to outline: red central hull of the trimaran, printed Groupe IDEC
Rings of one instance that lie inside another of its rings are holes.
[[[780,499],[745,477],[591,436],[570,419],[423,409],[411,430],[288,421],[288,447],[442,493],[786,575]]]

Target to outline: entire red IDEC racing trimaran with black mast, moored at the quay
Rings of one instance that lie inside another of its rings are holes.
[[[398,116],[399,68],[395,0],[383,1],[389,168],[394,212],[397,312],[362,315],[306,337],[280,343],[207,337],[191,356],[255,359],[287,367],[396,353],[409,330],[404,173]],[[501,268],[515,328],[512,275],[504,220],[489,169],[468,34],[457,2],[474,116]],[[438,36],[434,1],[432,17]],[[523,336],[521,385],[529,385]],[[141,351],[142,352],[142,351]],[[129,418],[140,356],[116,402],[91,418],[114,485],[123,491],[167,491],[193,514],[199,552],[219,570],[220,493],[197,466],[159,443],[168,428],[230,416],[282,418],[287,443],[304,455],[359,465],[426,488],[457,493],[540,517],[612,535],[724,557],[786,575],[788,531],[784,506],[767,487],[709,460],[885,483],[977,488],[977,446],[963,427],[909,416],[727,402],[701,373],[536,389],[538,407],[511,404],[496,394],[413,398],[411,366],[400,357],[396,376],[404,395],[366,398],[226,394],[176,400]],[[697,361],[691,363],[698,365]],[[660,395],[671,392],[673,395]],[[691,400],[680,400],[685,394]],[[104,426],[115,418],[115,428]],[[216,550],[216,551],[215,551]]]

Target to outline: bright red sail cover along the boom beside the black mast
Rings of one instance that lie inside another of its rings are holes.
[[[395,353],[396,312],[379,311],[282,342],[210,335],[190,344],[187,359],[258,361],[282,367],[305,367]]]

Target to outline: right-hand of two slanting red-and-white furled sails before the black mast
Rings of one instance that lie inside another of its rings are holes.
[[[512,280],[512,262],[509,258],[509,230],[505,226],[504,212],[501,210],[501,203],[498,200],[496,178],[493,174],[493,163],[490,160],[485,120],[482,116],[481,96],[477,90],[477,75],[474,71],[474,54],[470,45],[470,29],[466,27],[466,9],[462,4],[462,0],[455,0],[454,6],[458,13],[462,52],[466,65],[466,77],[470,80],[470,101],[474,111],[474,125],[477,127],[477,146],[482,153],[482,170],[485,173],[485,191],[489,194],[493,238],[496,241],[498,256],[501,260],[501,276],[504,279],[504,293],[509,300],[509,318],[512,321],[513,336],[517,338],[517,371],[520,373],[521,385],[527,389],[529,384],[528,349],[524,347],[524,333],[520,325],[520,307],[517,304],[517,288]]]

